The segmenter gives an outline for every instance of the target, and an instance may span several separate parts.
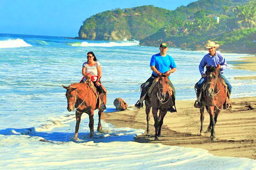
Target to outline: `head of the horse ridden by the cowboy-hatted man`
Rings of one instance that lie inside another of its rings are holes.
[[[209,94],[212,94],[215,89],[215,85],[220,75],[220,69],[218,67],[207,66],[206,67],[206,76],[207,76],[207,88]]]

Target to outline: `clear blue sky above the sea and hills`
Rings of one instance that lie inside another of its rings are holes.
[[[154,5],[174,10],[196,0],[0,0],[0,33],[76,37],[99,12]]]

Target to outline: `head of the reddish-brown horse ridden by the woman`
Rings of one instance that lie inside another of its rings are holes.
[[[73,86],[68,86],[68,87],[63,86],[63,87],[67,89],[67,92],[66,92],[67,110],[71,112],[75,109],[75,105],[76,105],[76,99],[77,99],[76,88]]]

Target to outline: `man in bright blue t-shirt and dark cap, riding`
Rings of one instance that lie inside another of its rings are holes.
[[[151,77],[148,78],[148,80],[145,82],[142,88],[140,100],[137,101],[137,103],[135,104],[135,107],[137,108],[143,107],[143,100],[147,94],[148,88],[151,86],[155,78],[157,78],[160,75],[169,74],[176,71],[176,64],[173,58],[167,54],[167,50],[168,50],[167,44],[161,43],[159,50],[160,50],[160,53],[155,54],[151,57],[150,68],[153,72]],[[170,81],[170,78],[169,78],[169,84],[173,89],[173,95],[174,95],[173,100],[175,100],[175,88],[172,82]],[[174,109],[173,107],[170,107],[168,111],[176,112],[176,109]]]

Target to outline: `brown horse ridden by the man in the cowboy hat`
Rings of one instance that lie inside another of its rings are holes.
[[[227,85],[224,79],[220,75],[220,69],[218,67],[207,67],[206,71],[207,81],[203,86],[204,91],[202,92],[202,106],[200,108],[201,113],[201,130],[200,135],[203,133],[203,122],[204,122],[204,107],[210,115],[210,124],[207,129],[208,133],[211,131],[212,141],[216,141],[215,138],[215,124],[217,117],[223,108],[223,104],[227,97]]]

